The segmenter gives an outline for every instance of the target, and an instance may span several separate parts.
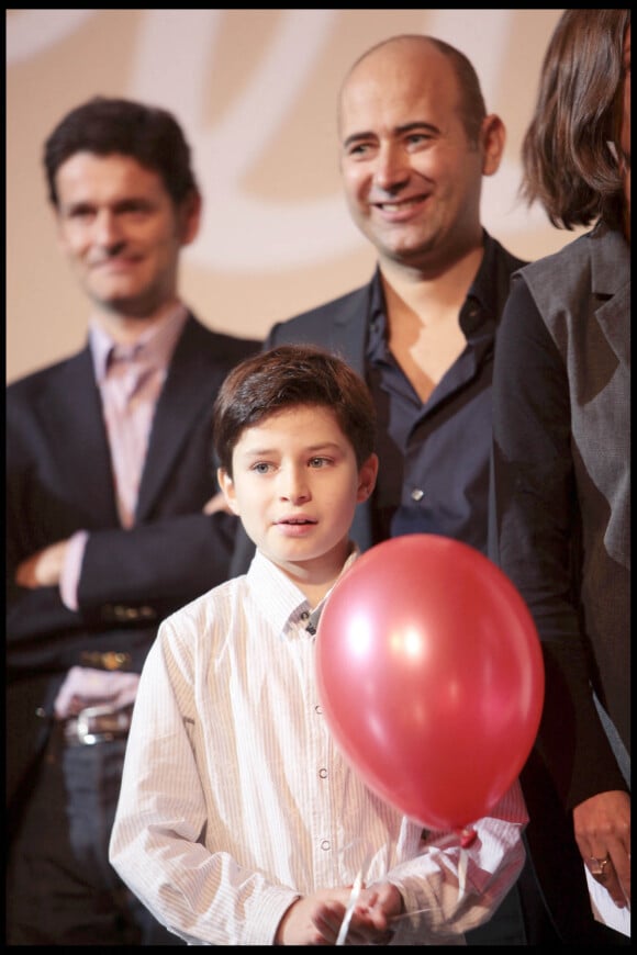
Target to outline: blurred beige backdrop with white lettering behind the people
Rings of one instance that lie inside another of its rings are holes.
[[[472,60],[507,128],[483,222],[537,258],[573,233],[517,199],[519,147],[561,10],[8,10],[7,380],[79,349],[88,305],[56,245],[44,139],[101,93],[171,110],[204,198],[181,291],[213,328],[273,322],[368,281],[371,247],[342,195],[336,97],[369,46],[428,33]]]

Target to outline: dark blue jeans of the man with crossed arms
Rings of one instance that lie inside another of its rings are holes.
[[[183,945],[109,863],[125,740],[67,745],[55,726],[11,839],[9,945]]]

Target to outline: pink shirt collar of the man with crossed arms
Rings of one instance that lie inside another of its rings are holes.
[[[180,303],[159,322],[153,323],[131,346],[118,345],[97,319],[91,318],[89,321],[89,348],[98,383],[101,384],[104,381],[109,359],[115,349],[121,357],[128,357],[131,360],[141,361],[165,371],[170,363],[187,318],[186,306]]]

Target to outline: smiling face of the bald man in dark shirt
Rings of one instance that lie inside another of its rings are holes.
[[[435,46],[398,41],[359,63],[342,91],[339,138],[349,211],[381,262],[444,268],[480,241],[482,176],[500,153],[485,162],[469,142],[458,79]]]

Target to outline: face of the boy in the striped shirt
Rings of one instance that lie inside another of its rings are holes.
[[[333,412],[300,405],[246,428],[232,462],[220,485],[261,553],[309,583],[337,574],[356,505],[373,490],[376,454],[359,470]]]

